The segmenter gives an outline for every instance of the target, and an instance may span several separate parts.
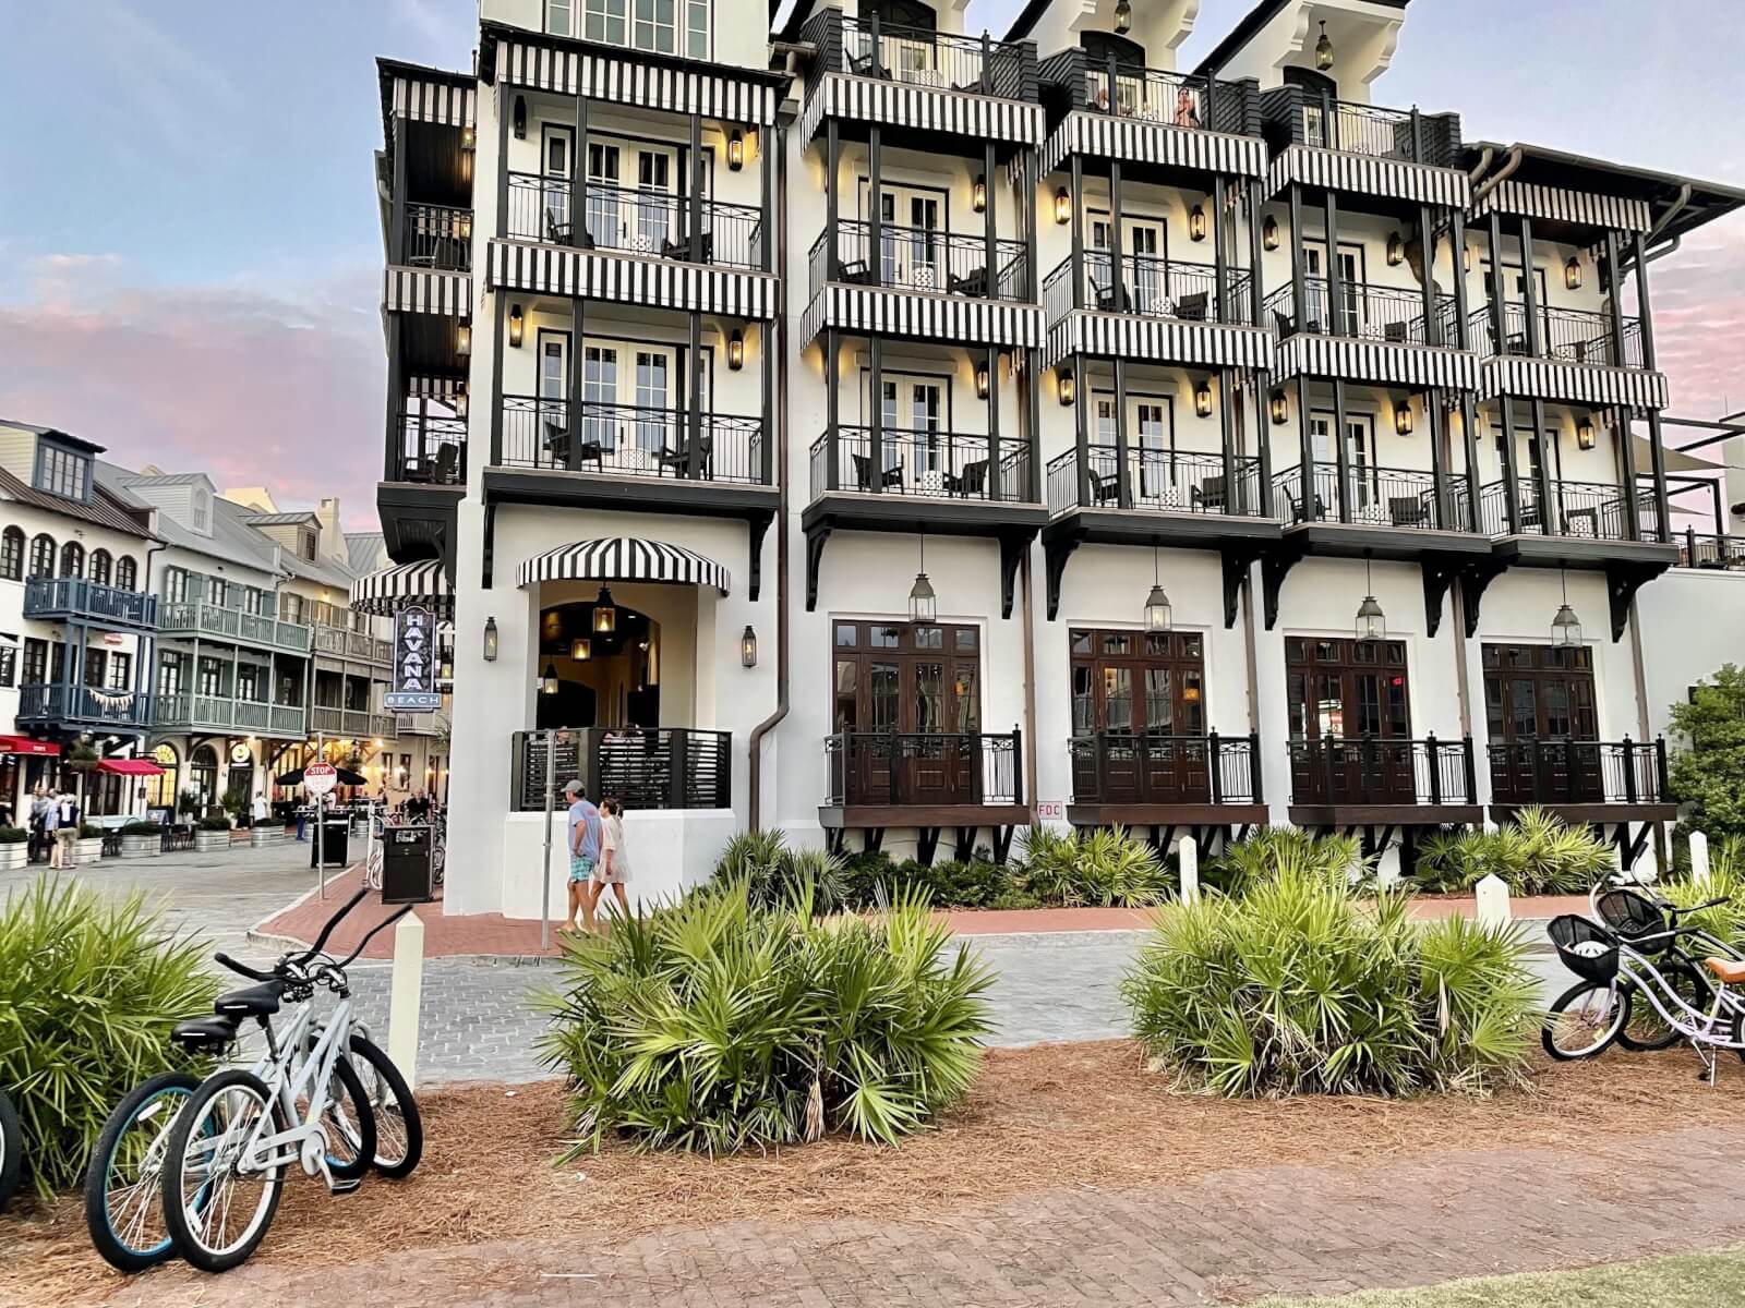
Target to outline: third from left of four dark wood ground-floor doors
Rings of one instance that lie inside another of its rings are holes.
[[[1297,802],[1412,804],[1405,642],[1288,637],[1284,663]]]

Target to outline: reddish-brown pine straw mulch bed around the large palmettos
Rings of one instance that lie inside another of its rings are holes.
[[[586,1230],[623,1240],[757,1217],[927,1221],[963,1205],[1080,1186],[1187,1182],[1255,1165],[1363,1167],[1475,1148],[1581,1149],[1595,1139],[1745,1127],[1745,1069],[1696,1081],[1687,1050],[1543,1055],[1532,1083],[1490,1099],[1307,1097],[1225,1100],[1174,1093],[1131,1041],[993,1050],[968,1102],[900,1149],[845,1139],[708,1160],[612,1146],[555,1167],[564,1148],[557,1081],[436,1090],[422,1097],[424,1163],[405,1182],[365,1182],[332,1202],[300,1175],[258,1263],[335,1266],[386,1252]],[[368,1205],[359,1210],[359,1200]],[[75,1200],[0,1219],[0,1303],[150,1303],[169,1266],[126,1280],[92,1252]]]

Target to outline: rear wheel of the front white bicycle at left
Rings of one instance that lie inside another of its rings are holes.
[[[267,1238],[284,1193],[284,1165],[243,1172],[250,1137],[270,1118],[290,1130],[284,1106],[253,1073],[209,1076],[188,1097],[164,1149],[164,1226],[201,1271],[246,1263]]]

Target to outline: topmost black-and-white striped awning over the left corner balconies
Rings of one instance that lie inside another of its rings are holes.
[[[497,77],[506,85],[757,126],[775,124],[778,103],[768,82],[731,77],[719,66],[701,72],[628,52],[619,58],[513,40],[497,51]]]

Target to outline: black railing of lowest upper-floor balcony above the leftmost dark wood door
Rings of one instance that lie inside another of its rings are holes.
[[[883,452],[874,459],[869,427],[838,427],[836,433],[834,478],[831,434],[811,443],[813,495],[866,490],[923,499],[1030,499],[1030,448],[1019,438],[1003,439],[995,457],[988,436],[886,427]]]

